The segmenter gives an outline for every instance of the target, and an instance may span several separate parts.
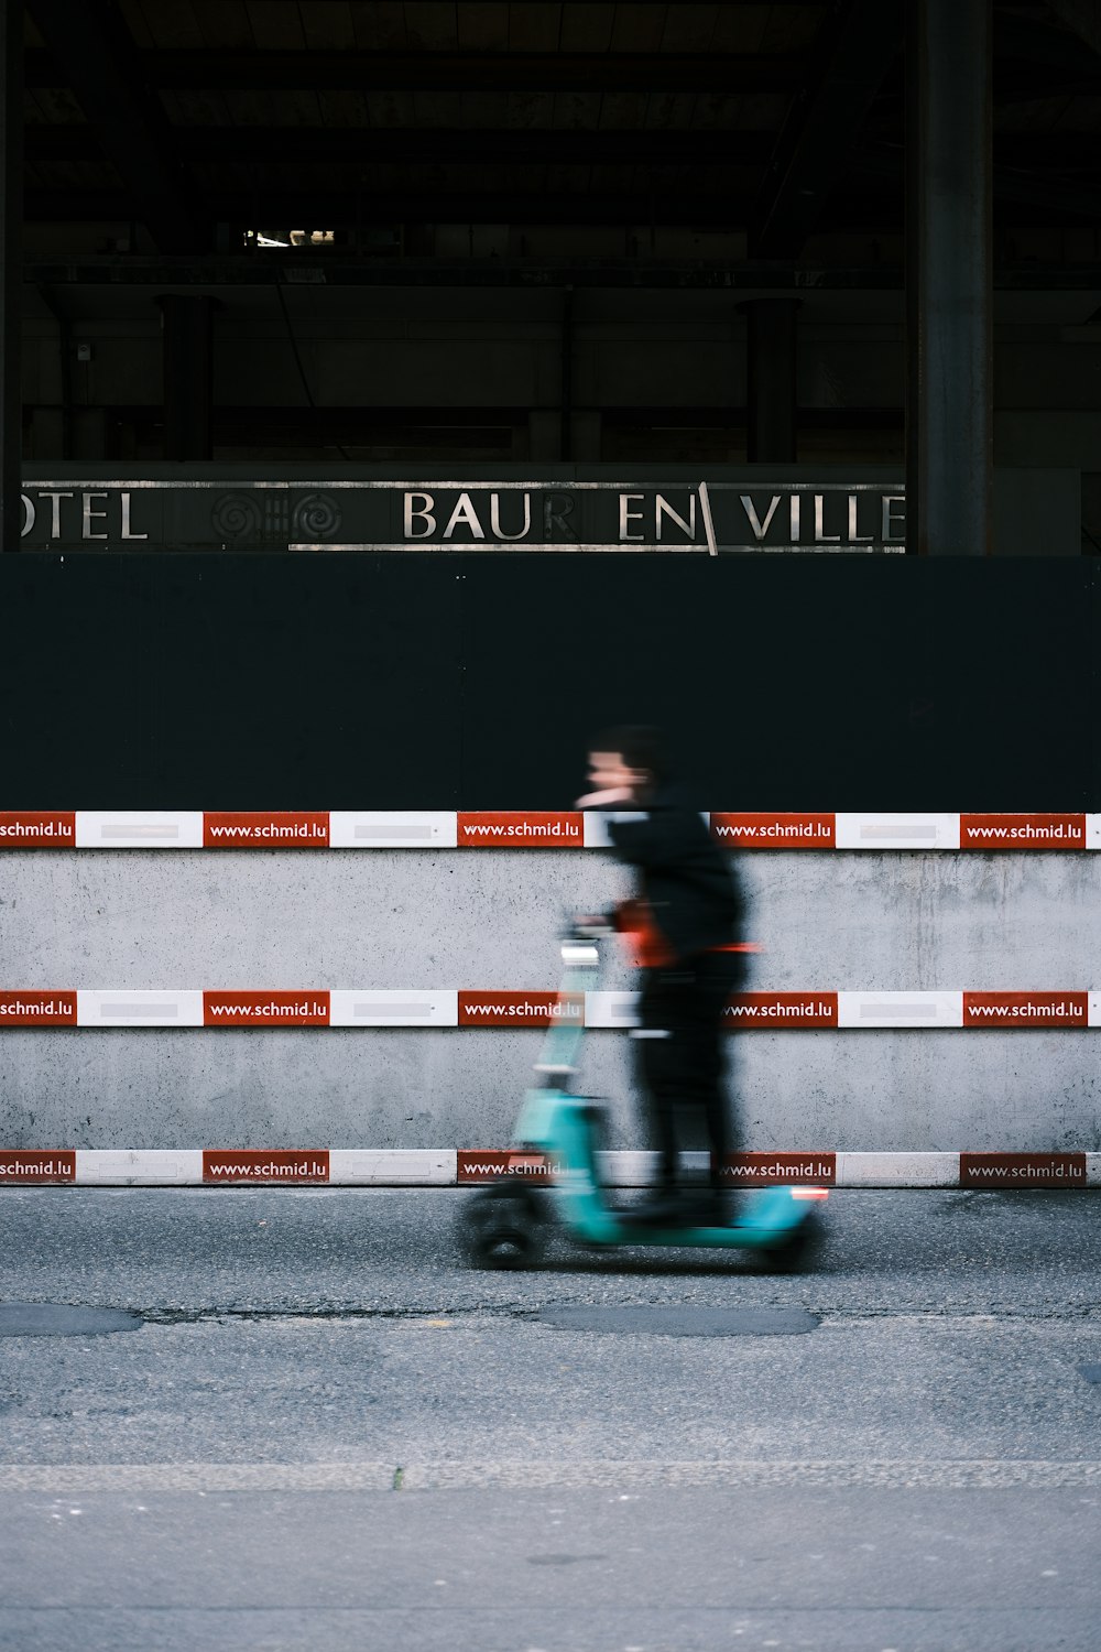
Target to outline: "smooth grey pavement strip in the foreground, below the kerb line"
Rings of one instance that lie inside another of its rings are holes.
[[[829,1490],[807,1513],[792,1488],[0,1498],[0,1626],[26,1652],[1096,1647],[1093,1497]]]

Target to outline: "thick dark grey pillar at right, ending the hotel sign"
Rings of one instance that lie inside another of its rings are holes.
[[[992,550],[990,0],[906,38],[906,548]]]

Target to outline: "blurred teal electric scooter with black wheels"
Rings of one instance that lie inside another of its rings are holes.
[[[599,940],[593,928],[563,938],[561,998],[583,995],[599,971]],[[576,1001],[576,998],[574,998]],[[568,1239],[601,1249],[611,1246],[693,1246],[697,1249],[756,1251],[774,1272],[809,1265],[820,1237],[819,1209],[825,1188],[761,1188],[741,1194],[730,1226],[693,1227],[687,1216],[673,1224],[644,1222],[609,1199],[598,1165],[606,1108],[569,1092],[578,1069],[583,1019],[553,1021],[541,1059],[540,1084],[520,1107],[510,1150],[510,1173],[479,1188],[459,1216],[459,1237],[474,1267],[535,1267],[551,1222]],[[533,1183],[550,1165],[551,1184]]]

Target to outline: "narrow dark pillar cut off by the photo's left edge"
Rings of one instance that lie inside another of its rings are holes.
[[[23,532],[23,0],[0,5],[0,550]]]

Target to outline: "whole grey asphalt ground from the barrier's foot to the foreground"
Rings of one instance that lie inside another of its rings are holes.
[[[0,1303],[140,1328],[0,1308],[0,1647],[1096,1652],[1098,1196],[839,1191],[796,1277],[464,1198],[3,1189]]]

